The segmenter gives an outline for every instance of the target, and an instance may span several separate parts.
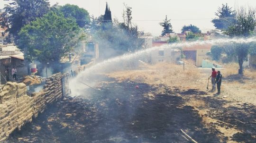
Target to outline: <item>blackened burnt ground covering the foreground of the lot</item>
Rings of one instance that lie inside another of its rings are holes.
[[[214,126],[236,126],[241,133],[233,141],[256,142],[256,124],[247,123],[255,121],[253,105],[223,108],[227,101],[164,85],[113,82],[100,88],[88,89],[89,99],[66,98],[49,107],[7,143],[189,143],[180,129],[199,143],[225,143],[227,137]],[[205,126],[198,111],[184,106],[183,97],[175,93],[210,102],[207,116],[225,123]]]

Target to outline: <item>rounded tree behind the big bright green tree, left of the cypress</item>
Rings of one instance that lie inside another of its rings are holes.
[[[79,27],[89,25],[91,20],[87,10],[79,8],[77,5],[66,4],[60,7],[60,11],[64,14],[65,18],[75,18]]]

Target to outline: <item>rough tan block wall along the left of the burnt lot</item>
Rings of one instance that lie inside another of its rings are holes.
[[[0,141],[6,140],[15,129],[20,130],[27,122],[31,122],[48,104],[63,98],[64,76],[68,74],[58,73],[47,78],[44,89],[31,96],[27,95],[27,87],[23,83],[0,85]]]

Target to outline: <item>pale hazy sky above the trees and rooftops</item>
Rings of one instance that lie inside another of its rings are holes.
[[[132,8],[132,22],[139,30],[160,35],[162,27],[158,24],[165,19],[171,19],[174,32],[180,33],[183,25],[196,25],[202,32],[214,29],[210,22],[221,4],[238,8],[240,6],[256,7],[256,0],[49,0],[51,5],[66,3],[78,5],[88,10],[90,15],[97,17],[104,14],[106,2],[110,6],[112,17],[122,20],[124,3]],[[6,1],[0,0],[0,8]]]

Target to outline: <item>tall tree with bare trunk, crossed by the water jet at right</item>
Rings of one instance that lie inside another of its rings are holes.
[[[235,22],[223,33],[230,37],[249,37],[256,25],[255,13],[256,10],[253,8],[239,8],[235,14]],[[243,63],[247,60],[249,49],[249,44],[234,43],[234,50],[239,64],[238,74],[243,74]]]

